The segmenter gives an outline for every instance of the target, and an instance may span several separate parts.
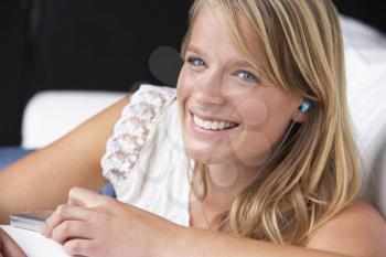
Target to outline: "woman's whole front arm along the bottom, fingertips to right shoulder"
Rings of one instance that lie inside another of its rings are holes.
[[[322,225],[305,247],[180,226],[79,188],[71,190],[68,204],[61,205],[45,225],[43,235],[63,244],[72,256],[385,257],[386,253],[385,221],[361,202]]]

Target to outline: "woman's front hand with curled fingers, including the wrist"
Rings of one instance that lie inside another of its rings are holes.
[[[63,244],[69,255],[168,256],[183,228],[132,205],[74,188],[68,204],[46,221],[42,234]]]

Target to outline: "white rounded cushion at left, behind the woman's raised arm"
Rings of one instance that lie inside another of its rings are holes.
[[[22,147],[36,149],[69,132],[126,93],[51,90],[34,95],[22,120]]]

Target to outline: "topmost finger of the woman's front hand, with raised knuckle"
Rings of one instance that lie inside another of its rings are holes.
[[[83,188],[73,188],[68,193],[68,204],[86,207],[98,207],[105,205],[106,196]]]

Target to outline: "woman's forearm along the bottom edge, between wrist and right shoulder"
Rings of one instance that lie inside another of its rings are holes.
[[[343,257],[344,255],[282,246],[261,240],[242,238],[224,233],[196,228],[182,228],[181,236],[174,240],[168,257]],[[160,255],[158,255],[160,256]],[[167,257],[165,256],[165,257]]]

